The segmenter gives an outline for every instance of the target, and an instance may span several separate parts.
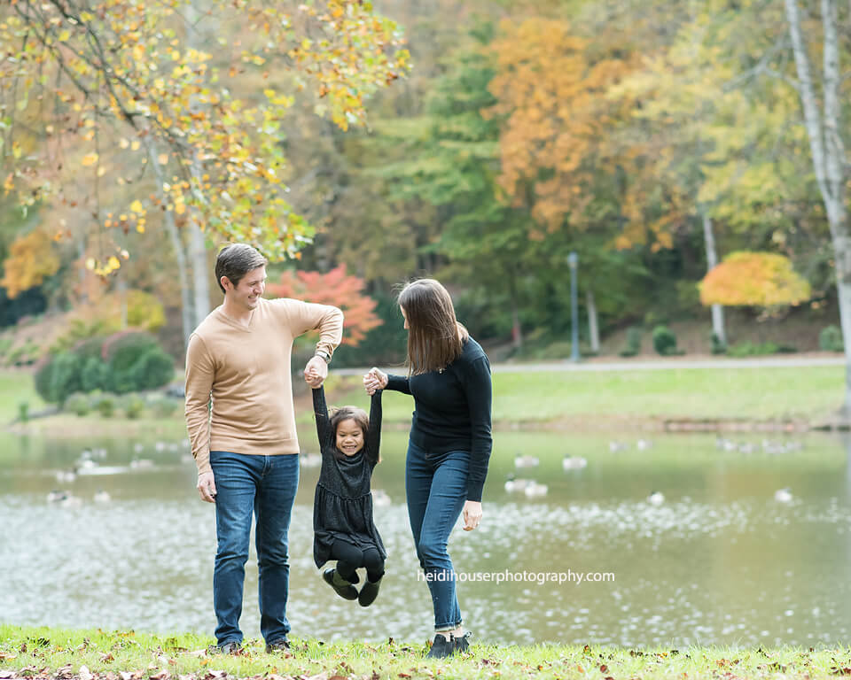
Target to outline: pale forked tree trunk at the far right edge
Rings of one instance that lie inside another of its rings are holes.
[[[837,0],[821,0],[824,30],[823,69],[824,112],[819,109],[816,86],[810,73],[807,44],[800,26],[797,0],[785,0],[786,19],[792,54],[798,72],[798,92],[804,110],[804,122],[813,158],[816,182],[824,201],[831,228],[836,289],[839,298],[839,322],[845,342],[845,404],[843,413],[851,415],[851,232],[847,224],[845,191],[847,170],[845,146],[840,136],[841,100],[839,99],[839,13]]]

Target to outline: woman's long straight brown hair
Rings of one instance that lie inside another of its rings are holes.
[[[408,320],[408,375],[445,368],[461,355],[469,334],[458,323],[452,298],[441,282],[412,281],[399,293],[397,302]],[[458,336],[458,328],[463,338]]]

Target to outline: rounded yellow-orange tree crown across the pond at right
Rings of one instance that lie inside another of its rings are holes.
[[[799,305],[810,297],[809,283],[795,273],[792,262],[772,252],[730,253],[699,289],[704,305]]]

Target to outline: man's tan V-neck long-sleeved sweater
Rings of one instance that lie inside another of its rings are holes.
[[[195,329],[186,350],[186,429],[199,475],[212,471],[210,451],[299,452],[290,358],[293,339],[312,329],[321,333],[316,348],[332,354],[343,313],[300,300],[261,299],[247,326],[220,306]]]

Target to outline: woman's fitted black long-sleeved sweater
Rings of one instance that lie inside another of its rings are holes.
[[[481,500],[493,447],[490,362],[481,345],[467,338],[448,367],[422,375],[390,375],[387,390],[414,397],[410,440],[429,452],[469,451],[467,500]]]

